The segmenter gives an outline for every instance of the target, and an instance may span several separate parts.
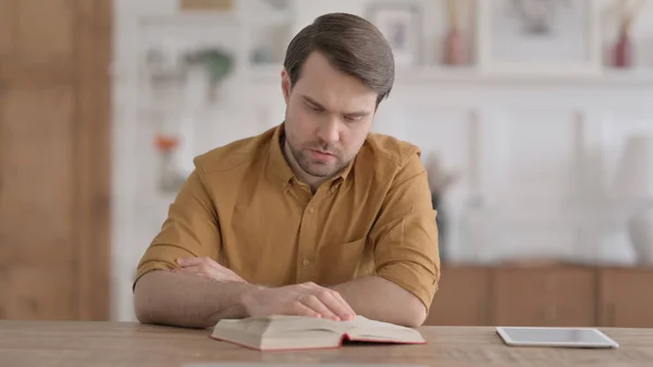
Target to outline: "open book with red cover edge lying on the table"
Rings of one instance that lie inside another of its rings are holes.
[[[303,316],[221,320],[211,338],[260,351],[340,347],[344,340],[370,343],[424,344],[416,329],[357,316],[332,321]]]

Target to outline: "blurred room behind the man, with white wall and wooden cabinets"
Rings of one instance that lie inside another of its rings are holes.
[[[0,318],[134,320],[193,157],[282,122],[285,47],[328,12],[395,52],[373,130],[429,171],[427,323],[653,327],[645,0],[1,0]]]

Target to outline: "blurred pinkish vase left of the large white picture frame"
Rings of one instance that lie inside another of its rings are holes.
[[[444,36],[443,63],[461,65],[468,62],[463,19],[468,9],[468,0],[445,0],[448,27]]]

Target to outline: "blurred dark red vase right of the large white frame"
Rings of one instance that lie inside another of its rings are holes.
[[[632,24],[640,14],[646,0],[618,0],[615,13],[618,20],[617,39],[612,50],[612,65],[615,68],[632,66]]]

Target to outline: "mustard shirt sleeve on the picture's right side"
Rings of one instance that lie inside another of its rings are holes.
[[[435,215],[427,171],[415,151],[396,173],[370,237],[375,274],[410,292],[427,311],[440,281]]]

